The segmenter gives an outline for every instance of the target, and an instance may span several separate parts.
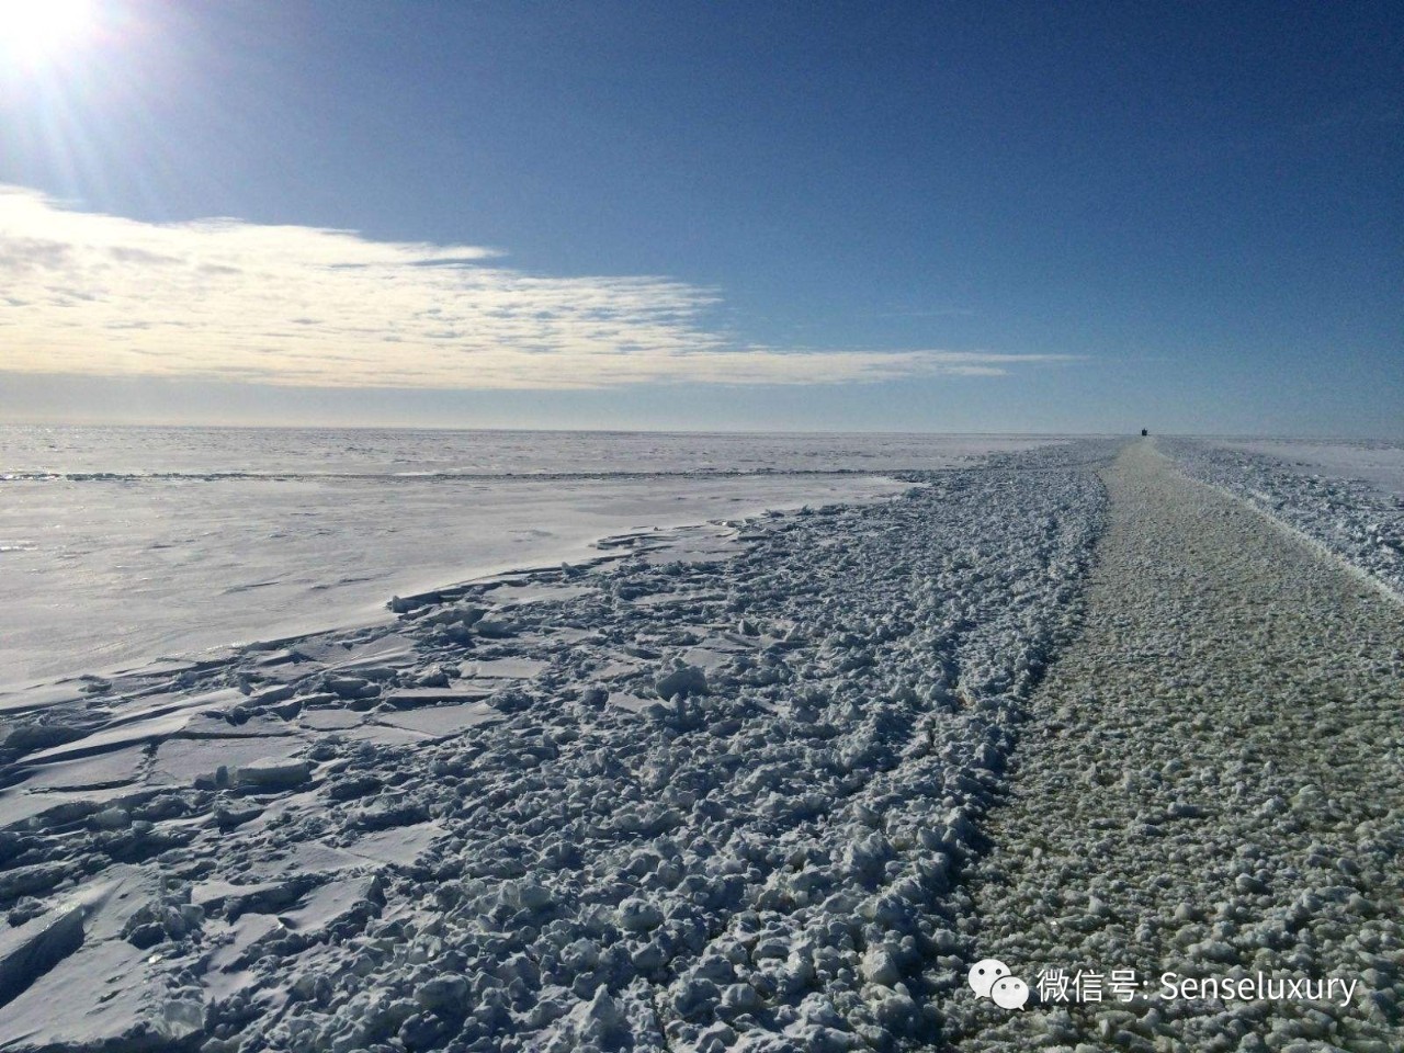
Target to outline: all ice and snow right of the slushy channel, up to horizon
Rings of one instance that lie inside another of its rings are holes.
[[[1191,476],[1299,531],[1404,598],[1404,445],[1161,438]]]

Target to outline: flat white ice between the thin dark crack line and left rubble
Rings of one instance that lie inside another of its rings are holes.
[[[906,489],[866,476],[0,486],[6,682],[336,626],[392,594],[590,559],[594,539],[651,524]]]

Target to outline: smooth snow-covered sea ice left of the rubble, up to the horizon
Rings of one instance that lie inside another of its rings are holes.
[[[382,616],[1031,437],[0,427],[0,687]]]

